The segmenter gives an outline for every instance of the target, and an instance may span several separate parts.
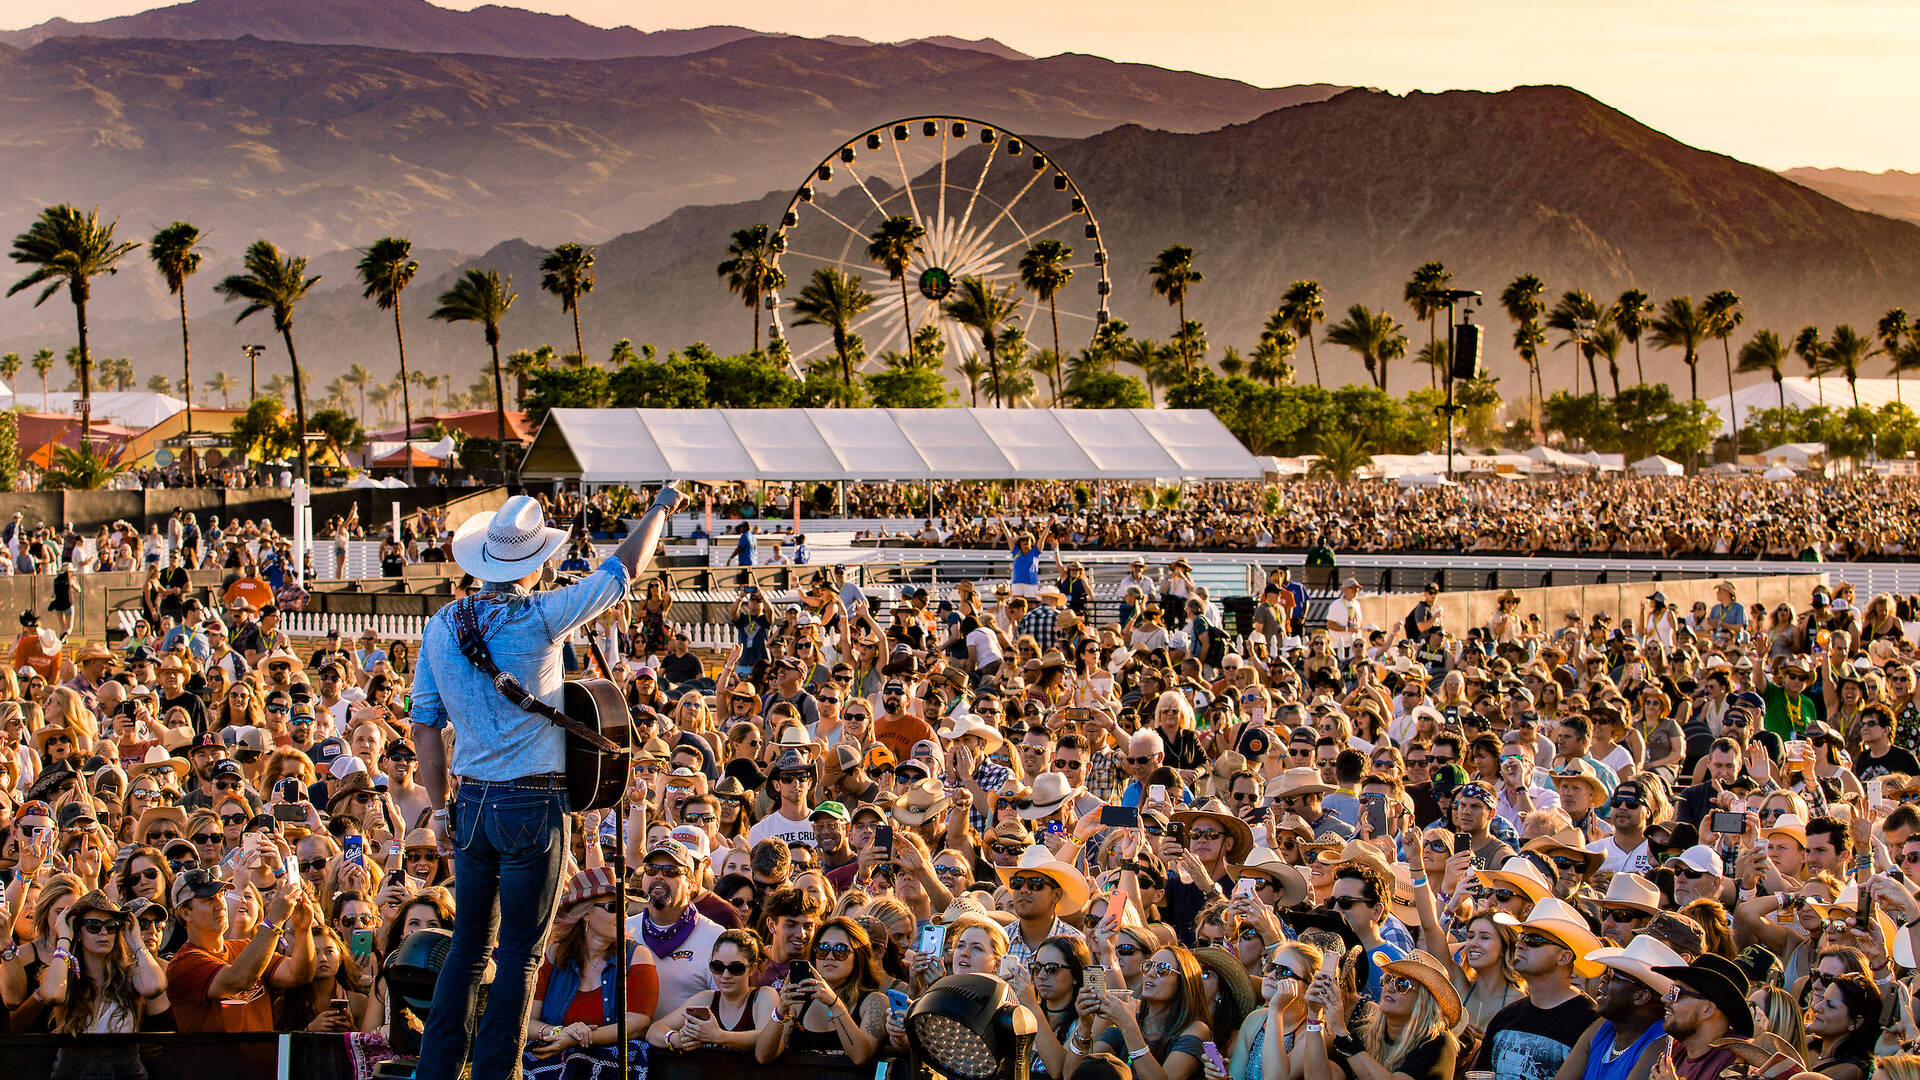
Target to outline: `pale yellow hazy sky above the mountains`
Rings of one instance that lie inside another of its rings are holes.
[[[300,2],[300,0],[282,0]],[[440,0],[472,8],[480,0]],[[639,29],[737,23],[876,40],[995,37],[1265,86],[1501,90],[1565,83],[1676,138],[1768,167],[1920,171],[1920,0],[503,0]],[[61,0],[69,19],[150,0]],[[0,15],[40,21],[27,2]]]

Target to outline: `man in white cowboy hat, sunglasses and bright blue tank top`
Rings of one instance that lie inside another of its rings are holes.
[[[1672,980],[1655,970],[1684,967],[1686,959],[1645,936],[1624,949],[1596,949],[1586,959],[1609,969],[1594,1001],[1599,1020],[1574,1043],[1561,1074],[1645,1080],[1672,1045],[1661,1026]]]

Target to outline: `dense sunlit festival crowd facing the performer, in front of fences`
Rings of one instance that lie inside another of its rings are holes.
[[[1398,498],[1342,505],[1359,528]],[[1515,598],[1459,626],[1428,590],[1373,630],[1357,582],[1309,626],[1277,571],[1242,648],[1177,567],[1139,561],[1098,625],[1041,550],[879,607],[839,567],[791,607],[749,590],[724,657],[634,582],[570,659],[643,746],[555,853],[526,1074],[862,1065],[908,1049],[937,980],[995,974],[1062,1080],[1920,1076],[1905,598],[1728,582],[1620,625]],[[0,667],[8,1030],[334,1032],[376,1061],[382,970],[457,924],[482,828],[434,813],[411,726],[422,700],[461,717],[407,642],[177,600]]]

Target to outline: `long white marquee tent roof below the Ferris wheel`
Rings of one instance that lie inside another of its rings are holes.
[[[520,475],[685,480],[1258,480],[1206,409],[553,409]]]

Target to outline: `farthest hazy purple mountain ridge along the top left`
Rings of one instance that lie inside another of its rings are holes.
[[[572,15],[482,4],[470,12],[436,8],[426,0],[190,0],[134,15],[75,23],[54,17],[21,31],[0,31],[0,44],[27,48],[56,37],[96,38],[265,38],[300,44],[365,44],[403,52],[472,52],[486,56],[612,60],[620,56],[684,56],[741,38],[787,37],[747,27],[637,31],[595,27]],[[828,35],[835,44],[874,44]],[[975,48],[1002,60],[1025,60],[993,38],[920,38],[948,48]],[[904,42],[902,42],[904,44]]]

